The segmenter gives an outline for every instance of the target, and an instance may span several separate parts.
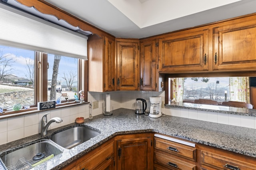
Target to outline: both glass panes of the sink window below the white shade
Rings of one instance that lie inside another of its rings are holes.
[[[0,45],[0,107],[12,111],[14,104],[28,108],[58,98],[62,102],[74,101],[75,93],[83,89],[79,86],[79,61],[82,60]]]

